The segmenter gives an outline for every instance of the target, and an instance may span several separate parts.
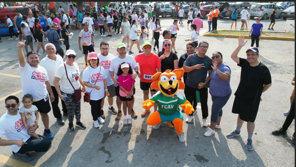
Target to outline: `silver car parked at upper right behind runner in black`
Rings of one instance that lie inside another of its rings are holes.
[[[253,4],[251,7],[250,18],[254,19],[254,17],[262,17],[263,20],[268,19],[275,7],[277,7],[276,17],[281,19],[281,15],[284,10],[271,3]]]

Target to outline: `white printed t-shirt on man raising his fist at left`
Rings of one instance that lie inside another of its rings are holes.
[[[20,80],[22,84],[22,96],[31,94],[33,100],[41,100],[48,97],[45,81],[48,81],[48,75],[42,66],[37,68],[26,63],[25,67],[20,66]],[[46,101],[46,100],[45,100]]]

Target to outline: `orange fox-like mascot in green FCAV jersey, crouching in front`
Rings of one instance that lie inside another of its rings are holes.
[[[150,88],[159,91],[151,99],[143,102],[143,108],[147,110],[154,103],[158,106],[158,110],[147,118],[147,125],[157,126],[161,122],[168,122],[169,127],[175,127],[177,130],[180,142],[185,142],[185,138],[183,135],[183,114],[180,112],[179,105],[187,115],[194,111],[190,102],[177,92],[178,89],[185,89],[185,84],[180,80],[183,74],[184,69],[182,68],[154,74]]]

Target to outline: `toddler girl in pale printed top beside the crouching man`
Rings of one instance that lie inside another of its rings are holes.
[[[32,105],[32,102],[33,96],[30,94],[25,94],[24,97],[22,97],[22,103],[24,105],[19,108],[20,115],[22,116],[22,123],[24,124],[26,130],[28,130],[29,127],[33,126],[34,124],[38,124],[38,108]],[[36,133],[29,135],[36,139],[40,139]]]

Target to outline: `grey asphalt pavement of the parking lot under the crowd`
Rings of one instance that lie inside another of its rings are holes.
[[[172,17],[160,18],[162,27],[168,28],[173,22]],[[251,19],[254,23],[255,19]],[[268,20],[263,22],[263,30],[268,28]],[[186,52],[186,43],[191,30],[187,30],[184,20],[180,25],[176,40],[178,57]],[[230,19],[218,19],[218,30],[229,30]],[[189,25],[190,26],[190,25]],[[285,20],[276,19],[274,30],[284,31]],[[207,20],[204,19],[204,28],[200,34],[208,30]],[[76,63],[79,64],[81,74],[84,70],[84,55],[78,49],[79,31],[71,30],[74,33],[70,39],[70,49],[77,53]],[[151,31],[150,31],[151,34]],[[16,40],[8,40],[9,37],[2,37],[0,43],[0,116],[6,112],[4,97],[15,95],[22,98],[20,72],[18,68]],[[96,31],[94,35],[95,51],[99,51],[99,43],[107,41],[110,44],[110,53],[117,55],[116,46],[122,40],[121,35],[113,37],[101,37]],[[107,101],[104,105],[106,115],[105,123],[99,128],[93,127],[90,112],[90,105],[81,102],[81,121],[86,125],[85,130],[79,127],[75,131],[68,130],[68,121],[65,125],[58,125],[52,112],[49,113],[50,129],[54,135],[52,146],[46,153],[36,153],[36,159],[28,162],[31,166],[256,166],[256,167],[277,167],[295,166],[295,145],[291,143],[295,129],[293,121],[287,135],[274,136],[271,131],[278,129],[284,123],[286,117],[283,112],[290,108],[290,94],[293,86],[291,80],[295,74],[295,41],[260,40],[259,60],[266,64],[271,72],[272,86],[262,94],[263,101],[260,103],[259,111],[255,121],[253,134],[254,150],[248,151],[247,124],[244,123],[241,136],[228,139],[226,135],[232,132],[237,123],[237,114],[232,114],[231,109],[234,101],[234,92],[237,89],[240,79],[240,67],[230,58],[231,53],[237,47],[237,39],[223,37],[199,36],[199,42],[209,42],[207,55],[211,56],[215,51],[223,54],[223,61],[231,68],[232,95],[223,108],[221,129],[215,129],[215,135],[205,137],[203,134],[206,128],[202,127],[202,113],[198,104],[195,119],[191,123],[184,120],[183,131],[186,139],[181,143],[174,128],[169,128],[166,123],[154,130],[146,123],[147,117],[141,117],[143,111],[143,93],[140,89],[139,78],[136,79],[136,94],[134,110],[139,115],[133,119],[132,126],[124,126],[123,118],[115,120],[115,115],[107,112]],[[140,44],[154,41],[144,38],[139,40]],[[242,48],[239,57],[246,57],[245,50],[250,47],[250,42]],[[46,42],[44,42],[46,43]],[[36,49],[37,44],[33,44]],[[65,46],[63,45],[65,49]],[[24,50],[25,51],[25,50]],[[137,53],[136,46],[132,51]],[[153,52],[153,51],[152,51]],[[133,54],[135,56],[136,54]],[[40,60],[46,54],[40,56]],[[33,88],[32,88],[33,89]],[[184,95],[183,90],[179,93]],[[4,98],[4,99],[3,99]],[[211,96],[208,97],[208,109],[210,122]],[[59,105],[61,108],[61,105]],[[117,109],[114,99],[114,106]],[[186,115],[184,115],[184,119]],[[38,134],[43,134],[44,126],[39,121]],[[5,137],[4,137],[5,139]],[[0,160],[0,167],[24,166],[18,158],[12,155],[8,147],[1,147],[0,157],[9,158],[10,162]],[[1,159],[1,158],[0,158]]]

